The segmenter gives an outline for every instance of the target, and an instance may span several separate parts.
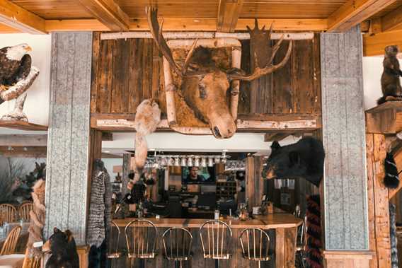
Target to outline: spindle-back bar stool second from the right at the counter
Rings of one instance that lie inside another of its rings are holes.
[[[229,260],[229,243],[231,228],[223,221],[206,221],[200,227],[200,239],[204,259],[215,260],[215,267],[219,267],[219,260]]]

